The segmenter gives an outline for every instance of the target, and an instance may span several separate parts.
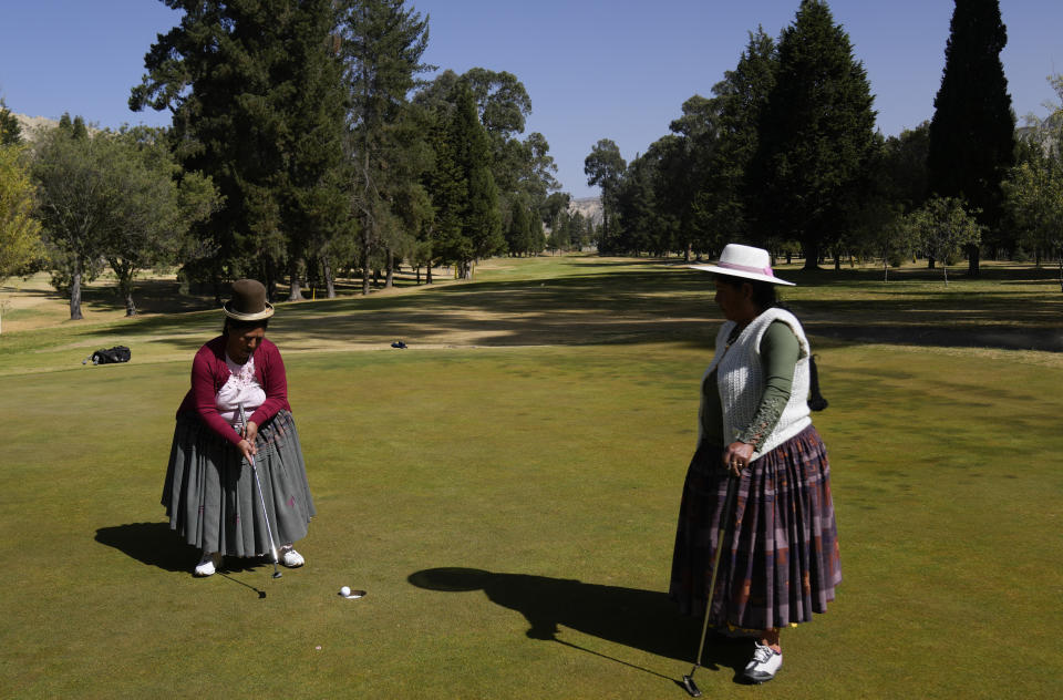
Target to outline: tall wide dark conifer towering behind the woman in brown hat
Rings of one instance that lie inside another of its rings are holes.
[[[187,172],[224,204],[198,227],[209,257],[185,266],[219,284],[256,276],[272,290],[332,234],[343,204],[342,65],[332,0],[164,0],[184,17],[145,56],[130,106],[173,112]]]

